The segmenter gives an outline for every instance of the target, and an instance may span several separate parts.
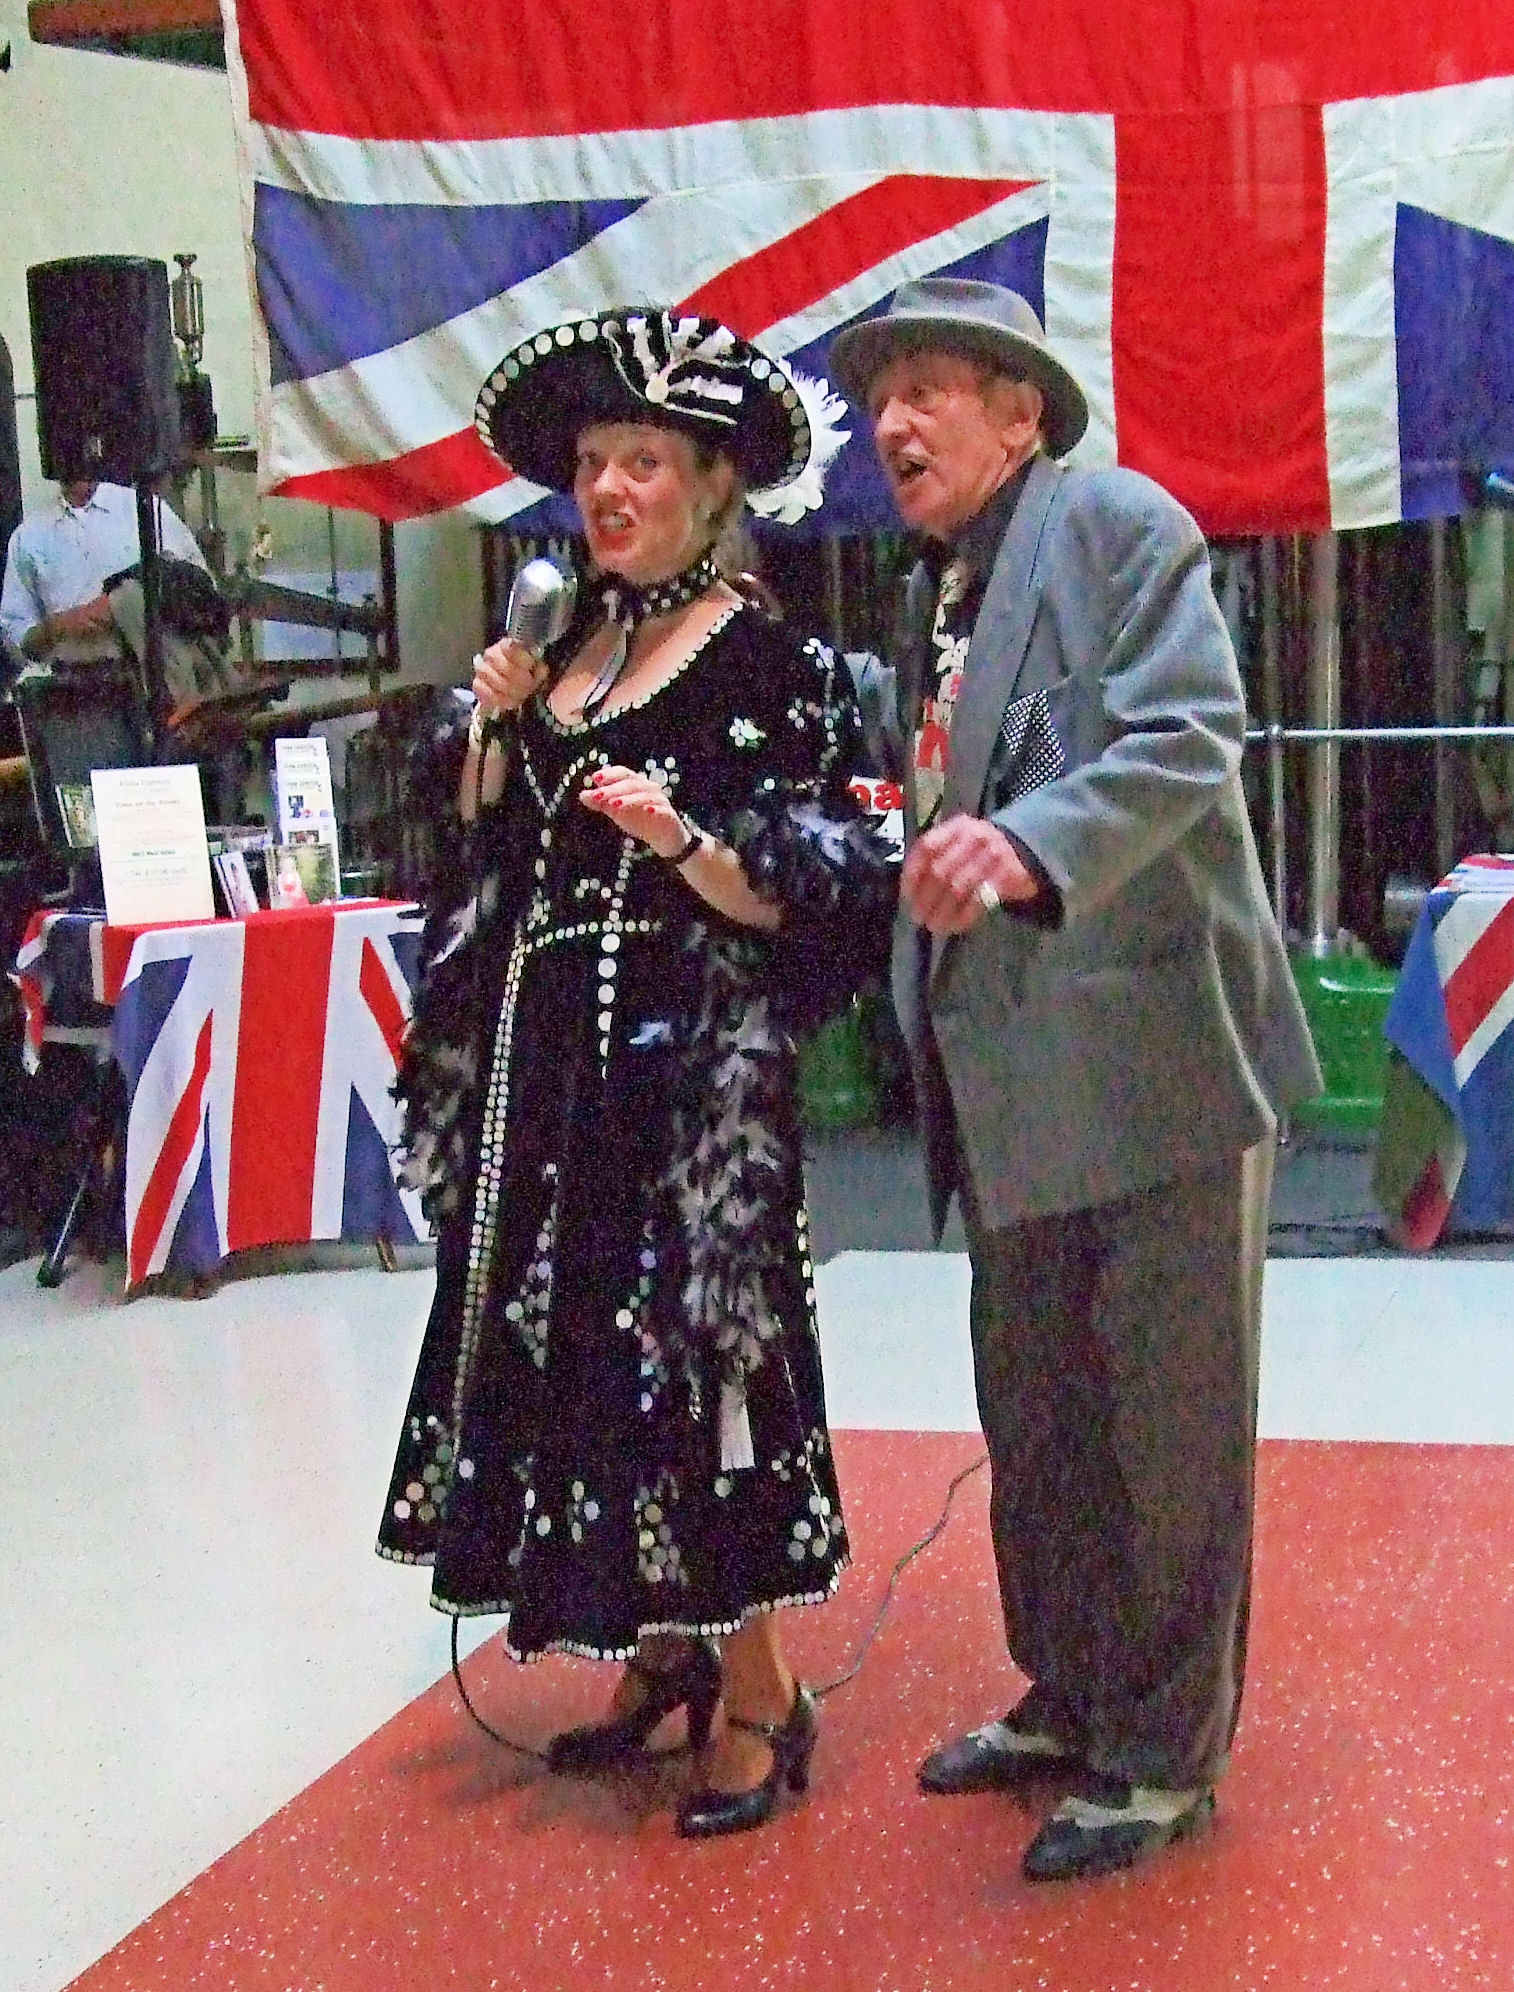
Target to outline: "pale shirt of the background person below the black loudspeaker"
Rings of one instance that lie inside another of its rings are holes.
[[[159,552],[205,558],[177,512],[157,508]],[[126,484],[70,478],[10,536],[0,635],[28,663],[94,663],[122,655],[104,584],[141,560],[137,494]]]

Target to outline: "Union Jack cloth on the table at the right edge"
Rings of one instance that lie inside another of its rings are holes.
[[[1394,1239],[1514,1227],[1514,857],[1430,892],[1385,1020],[1373,1181]]]

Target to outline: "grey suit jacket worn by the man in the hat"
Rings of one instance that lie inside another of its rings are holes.
[[[932,600],[861,673],[904,787]],[[1241,795],[1245,697],[1183,508],[1040,458],[966,653],[946,811],[1012,833],[1062,894],[958,936],[900,912],[894,1002],[936,1231],[960,1169],[984,1223],[1080,1209],[1251,1147],[1321,1078]]]

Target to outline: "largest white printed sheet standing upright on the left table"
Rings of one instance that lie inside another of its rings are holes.
[[[90,789],[110,924],[213,920],[199,769],[102,767]]]

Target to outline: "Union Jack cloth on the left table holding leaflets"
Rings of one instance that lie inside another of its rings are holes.
[[[426,1237],[394,1181],[388,1094],[418,948],[420,912],[380,900],[179,926],[32,916],[28,1062],[50,1020],[94,1004],[126,1082],[127,1287],[249,1245]]]

